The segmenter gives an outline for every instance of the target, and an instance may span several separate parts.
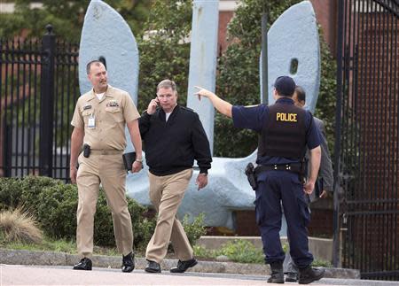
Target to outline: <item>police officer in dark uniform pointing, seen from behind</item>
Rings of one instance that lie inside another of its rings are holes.
[[[284,283],[281,247],[281,204],[290,233],[290,254],[300,270],[299,282],[308,284],[324,276],[325,269],[310,267],[313,256],[309,252],[309,209],[305,194],[311,194],[320,165],[320,137],[310,112],[293,104],[295,82],[280,76],[274,83],[276,103],[255,106],[232,106],[207,89],[196,95],[207,97],[217,111],[231,117],[236,128],[249,128],[259,133],[256,163],[255,199],[256,223],[262,234],[265,261],[270,264],[268,282]],[[311,170],[309,180],[300,180],[301,160],[309,148]]]

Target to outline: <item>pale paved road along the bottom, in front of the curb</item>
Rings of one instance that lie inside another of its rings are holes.
[[[0,265],[0,285],[266,285],[266,276],[240,274],[186,273],[147,274],[135,270],[130,274],[119,269],[93,268],[92,271],[76,271],[71,267],[32,267]],[[273,284],[267,284],[273,285]],[[279,285],[279,284],[274,284]],[[286,285],[298,285],[286,283]],[[311,285],[364,285],[394,286],[398,282],[375,282],[355,279],[324,278]]]

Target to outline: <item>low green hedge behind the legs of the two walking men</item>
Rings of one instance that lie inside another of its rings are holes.
[[[0,211],[22,205],[35,215],[46,236],[54,239],[74,239],[76,234],[77,188],[47,177],[28,176],[0,178]],[[155,218],[145,217],[148,208],[128,198],[129,213],[133,225],[135,249],[145,249],[156,225]],[[202,217],[192,224],[184,223],[184,229],[192,243],[203,234]],[[94,243],[114,246],[113,220],[106,196],[101,189],[94,221]]]

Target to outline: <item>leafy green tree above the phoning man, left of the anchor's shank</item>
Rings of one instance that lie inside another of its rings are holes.
[[[144,111],[155,97],[158,82],[176,81],[179,104],[186,104],[192,0],[155,0],[151,7],[147,33],[137,40],[140,52],[138,109]]]

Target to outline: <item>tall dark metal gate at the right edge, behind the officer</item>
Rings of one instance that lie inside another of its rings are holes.
[[[398,28],[398,0],[339,2],[334,238],[363,279],[399,280]]]

